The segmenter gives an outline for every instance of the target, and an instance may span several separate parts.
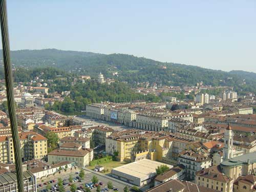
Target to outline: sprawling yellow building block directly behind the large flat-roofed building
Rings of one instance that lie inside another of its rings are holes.
[[[124,130],[114,132],[105,139],[107,154],[118,153],[120,161],[138,161],[151,159],[165,161],[171,156],[170,147],[173,138],[156,132],[142,132],[141,130]]]

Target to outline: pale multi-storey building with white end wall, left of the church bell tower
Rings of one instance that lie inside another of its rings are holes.
[[[211,166],[211,159],[189,150],[180,153],[178,163],[186,167],[186,177],[195,180],[198,170],[206,169]]]

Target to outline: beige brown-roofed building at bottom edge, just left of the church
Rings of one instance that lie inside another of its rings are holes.
[[[213,166],[196,173],[196,184],[222,192],[233,191],[233,179],[221,172],[220,166]]]

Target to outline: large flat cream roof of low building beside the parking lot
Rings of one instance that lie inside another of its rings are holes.
[[[152,161],[149,159],[142,159],[135,161],[120,167],[112,169],[112,172],[121,172],[127,176],[133,176],[137,178],[146,178],[152,177],[156,174],[156,168],[160,165],[167,165],[169,168],[172,168],[173,165],[168,165],[158,161]]]

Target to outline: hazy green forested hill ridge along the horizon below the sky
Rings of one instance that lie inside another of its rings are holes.
[[[56,49],[11,51],[11,56],[15,67],[51,66],[92,77],[97,77],[101,71],[105,77],[131,84],[149,81],[182,86],[203,81],[212,86],[234,86],[236,90],[256,92],[256,74],[244,71],[224,72],[126,54],[106,55]],[[115,72],[118,75],[113,75]]]

